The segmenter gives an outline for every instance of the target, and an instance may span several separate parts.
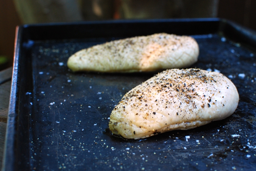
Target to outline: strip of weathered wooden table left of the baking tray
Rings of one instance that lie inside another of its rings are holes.
[[[0,169],[3,161],[4,139],[12,83],[12,67],[0,71]]]

